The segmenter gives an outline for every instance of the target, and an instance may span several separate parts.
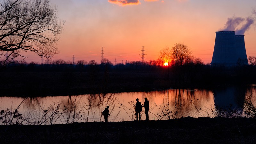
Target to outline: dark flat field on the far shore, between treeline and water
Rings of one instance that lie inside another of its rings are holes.
[[[209,66],[78,70],[13,68],[0,71],[0,96],[57,96],[256,84],[254,72],[254,67]]]

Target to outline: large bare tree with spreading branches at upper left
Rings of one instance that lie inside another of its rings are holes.
[[[65,21],[59,21],[57,8],[49,0],[0,1],[0,60],[6,65],[22,52],[34,52],[45,58],[59,53],[56,43]]]

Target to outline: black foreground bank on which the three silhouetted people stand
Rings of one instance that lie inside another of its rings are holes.
[[[1,143],[255,143],[256,118],[0,126]]]

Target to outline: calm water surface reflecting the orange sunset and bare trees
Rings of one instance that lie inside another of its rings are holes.
[[[136,119],[134,105],[136,98],[141,104],[149,100],[149,120],[164,120],[181,117],[227,116],[224,110],[236,110],[235,115],[244,115],[242,108],[248,93],[256,98],[256,86],[220,87],[213,90],[160,90],[152,92],[122,92],[106,95],[77,95],[36,98],[0,97],[0,110],[10,109],[22,114],[12,122],[22,124],[66,124],[72,122],[104,121],[101,115],[109,106],[108,121],[131,121]],[[223,108],[220,110],[220,108]],[[145,119],[144,108],[141,120]],[[229,116],[234,115],[233,112]],[[3,116],[3,115],[1,115]],[[8,117],[7,117],[8,119]],[[10,118],[9,118],[10,119]],[[2,124],[3,120],[0,120]]]

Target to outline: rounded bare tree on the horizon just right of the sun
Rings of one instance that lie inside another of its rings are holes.
[[[174,44],[172,47],[171,58],[174,60],[176,66],[181,66],[184,61],[191,56],[191,50],[185,44]]]

